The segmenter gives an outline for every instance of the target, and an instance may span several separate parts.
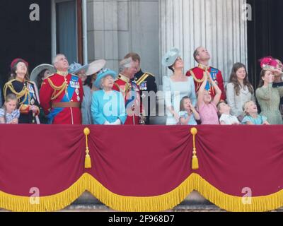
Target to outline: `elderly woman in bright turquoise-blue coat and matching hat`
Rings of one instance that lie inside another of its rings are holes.
[[[91,115],[93,124],[120,125],[127,119],[122,93],[112,90],[117,73],[103,69],[98,73],[94,85],[100,90],[93,93]]]

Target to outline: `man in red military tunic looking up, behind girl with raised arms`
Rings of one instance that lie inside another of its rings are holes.
[[[225,95],[224,83],[223,83],[223,77],[221,71],[209,66],[210,54],[207,51],[207,49],[205,49],[204,47],[198,47],[197,49],[195,49],[194,59],[195,61],[197,61],[199,65],[193,69],[190,69],[190,71],[187,71],[186,76],[192,76],[194,78],[196,93],[200,89],[200,85],[202,85],[202,82],[204,81],[205,73],[210,73],[212,79],[219,86],[222,92],[221,101],[225,101],[226,95]],[[214,88],[212,87],[212,84],[207,82],[205,89],[209,91],[212,97],[215,96],[216,93]]]

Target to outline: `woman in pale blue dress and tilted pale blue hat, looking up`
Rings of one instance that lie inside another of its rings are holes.
[[[175,125],[179,122],[180,100],[187,96],[195,107],[197,97],[195,95],[195,83],[192,76],[187,77],[183,73],[184,62],[180,57],[179,49],[172,48],[162,59],[163,66],[167,66],[173,75],[163,77],[163,92],[167,110],[166,125]]]

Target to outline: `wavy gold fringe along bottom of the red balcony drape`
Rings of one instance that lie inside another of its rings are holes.
[[[232,212],[264,212],[283,206],[283,190],[268,196],[252,197],[251,204],[245,205],[242,197],[224,194],[198,174],[191,174],[180,186],[167,194],[151,197],[132,197],[112,193],[90,174],[85,173],[69,189],[53,196],[40,197],[38,205],[30,204],[29,197],[13,196],[0,191],[0,208],[19,212],[62,210],[76,201],[86,190],[113,210],[127,212],[170,210],[184,201],[193,190],[200,192],[204,198],[207,198],[219,208]]]

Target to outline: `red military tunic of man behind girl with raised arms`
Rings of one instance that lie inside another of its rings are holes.
[[[193,69],[190,69],[190,71],[187,71],[186,76],[192,76],[195,81],[195,92],[197,93],[200,89],[200,86],[202,85],[202,82],[204,81],[204,73],[205,71],[208,71],[212,75],[212,79],[217,83],[221,93],[221,100],[226,100],[226,94],[224,90],[224,83],[223,83],[223,77],[221,74],[221,71],[218,69],[212,68],[211,66],[204,66],[202,64],[199,64]],[[209,90],[209,93],[212,95],[212,97],[215,96],[215,90],[212,87],[211,84],[209,84],[209,87],[206,87],[207,90]]]

